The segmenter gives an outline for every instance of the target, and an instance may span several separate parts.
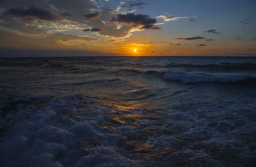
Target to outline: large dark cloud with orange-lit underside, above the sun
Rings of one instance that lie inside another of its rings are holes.
[[[162,28],[155,26],[157,23],[156,19],[150,18],[150,16],[145,14],[117,14],[112,17],[111,24],[124,24],[132,27],[140,27],[140,29],[149,30],[160,30]]]

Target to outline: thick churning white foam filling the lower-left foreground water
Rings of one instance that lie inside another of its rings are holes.
[[[94,106],[94,100],[86,99],[86,96],[64,96],[51,100],[35,115],[17,123],[1,137],[1,165],[139,166],[116,151],[118,142],[125,141],[125,136],[102,132],[99,122],[106,107]]]

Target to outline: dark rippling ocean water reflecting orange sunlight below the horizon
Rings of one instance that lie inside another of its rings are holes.
[[[0,58],[1,167],[255,164],[255,57]]]

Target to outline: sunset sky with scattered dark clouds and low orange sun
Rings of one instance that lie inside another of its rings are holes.
[[[256,0],[1,0],[0,53],[256,56]]]

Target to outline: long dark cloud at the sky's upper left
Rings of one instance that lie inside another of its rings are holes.
[[[28,9],[12,8],[7,11],[7,14],[17,17],[36,17],[39,20],[59,21],[61,17],[53,13],[52,10],[44,10],[35,6],[30,6]]]

